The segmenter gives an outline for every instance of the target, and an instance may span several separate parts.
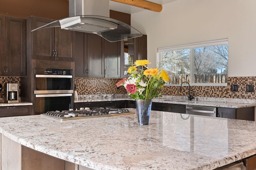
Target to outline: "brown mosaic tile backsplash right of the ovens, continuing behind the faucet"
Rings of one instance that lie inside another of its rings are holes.
[[[79,95],[91,94],[126,94],[123,86],[116,88],[116,78],[75,78]],[[255,99],[256,77],[228,77],[228,86],[191,86],[190,93],[194,97]],[[238,85],[238,92],[231,91],[231,85]],[[254,85],[253,92],[246,92],[246,85]],[[166,96],[187,96],[188,86],[165,86],[162,94]]]

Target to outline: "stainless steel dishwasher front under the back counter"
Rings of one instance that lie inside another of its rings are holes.
[[[216,107],[186,105],[186,113],[191,115],[216,117]]]

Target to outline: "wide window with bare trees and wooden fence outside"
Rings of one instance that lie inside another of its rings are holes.
[[[224,86],[228,78],[228,40],[159,48],[161,68],[176,85]]]

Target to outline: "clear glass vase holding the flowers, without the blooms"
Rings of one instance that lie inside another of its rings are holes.
[[[139,125],[148,125],[151,113],[152,99],[136,100],[136,111]]]

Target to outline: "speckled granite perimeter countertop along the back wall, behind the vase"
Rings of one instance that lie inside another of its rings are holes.
[[[134,100],[130,97],[116,97],[116,98],[80,98],[78,100],[74,100],[74,103],[80,103],[80,102],[104,102],[104,101],[120,101],[120,100]],[[135,100],[134,100],[135,101]],[[244,103],[242,103],[242,102]],[[170,103],[170,104],[184,104],[184,105],[193,105],[193,106],[210,106],[210,107],[226,107],[226,108],[243,108],[243,107],[254,107],[256,106],[255,101],[253,100],[215,100],[215,101],[197,101],[197,100],[181,100],[181,99],[169,99],[169,98],[154,98],[152,102],[158,102],[158,103]]]

